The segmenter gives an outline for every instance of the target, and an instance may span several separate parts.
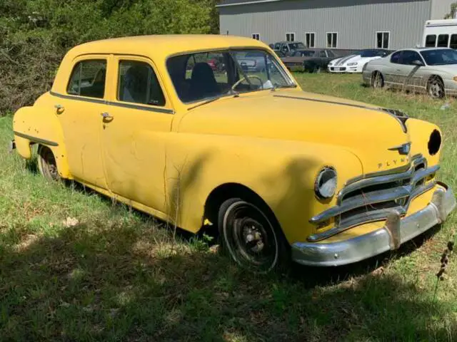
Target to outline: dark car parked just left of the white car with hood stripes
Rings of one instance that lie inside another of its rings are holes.
[[[297,50],[281,58],[284,65],[290,71],[308,71],[310,73],[319,73],[325,71],[328,63],[336,58],[333,51],[324,48],[313,48],[308,50]]]

